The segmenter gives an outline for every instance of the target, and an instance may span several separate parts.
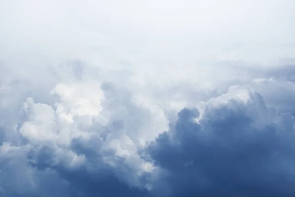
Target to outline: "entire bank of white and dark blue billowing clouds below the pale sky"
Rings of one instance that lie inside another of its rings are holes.
[[[27,98],[13,119],[1,111],[3,197],[295,195],[288,99],[268,106],[234,85],[175,114],[109,82],[60,83],[50,93],[55,104]]]

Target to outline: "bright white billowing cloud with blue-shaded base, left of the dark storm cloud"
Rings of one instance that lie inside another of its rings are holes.
[[[147,195],[142,176],[152,164],[137,148],[166,128],[163,111],[98,81],[59,83],[51,94],[59,101],[28,98],[14,121],[1,120],[2,194]]]

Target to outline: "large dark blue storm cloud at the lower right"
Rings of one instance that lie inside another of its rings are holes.
[[[156,189],[171,197],[293,197],[294,118],[283,114],[258,129],[252,101],[207,108],[199,123],[197,109],[181,110],[147,149],[161,169]]]

